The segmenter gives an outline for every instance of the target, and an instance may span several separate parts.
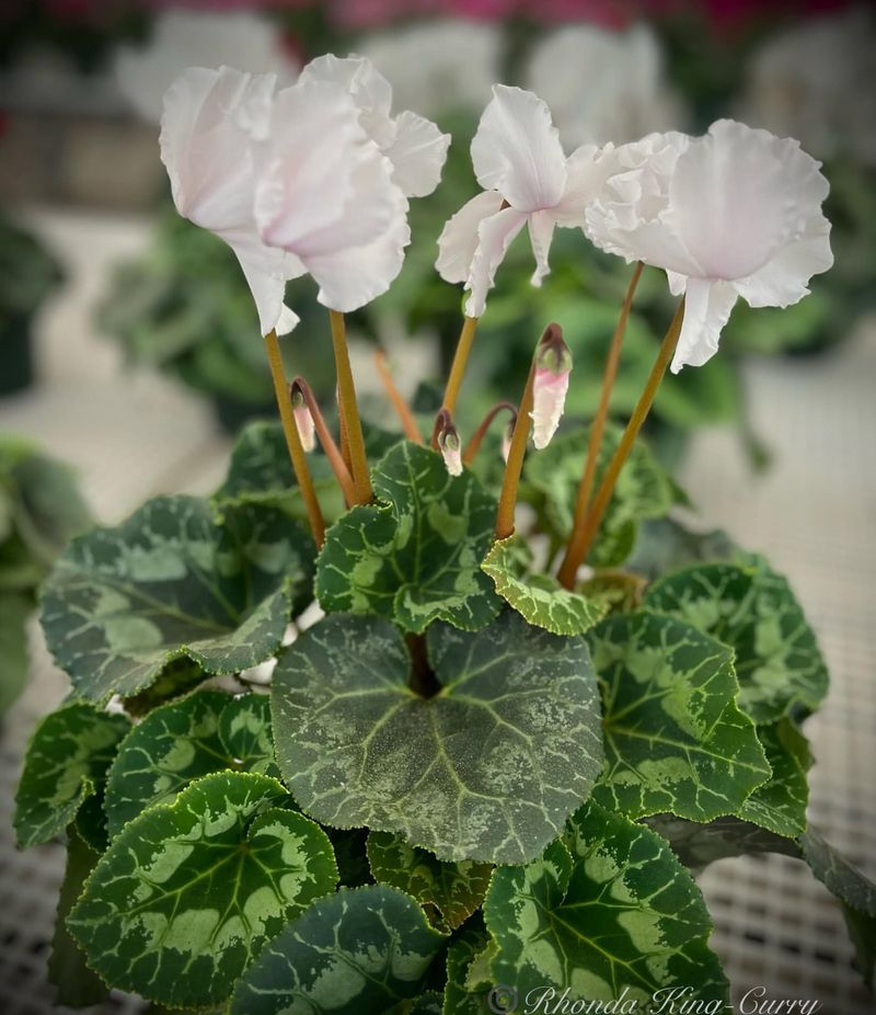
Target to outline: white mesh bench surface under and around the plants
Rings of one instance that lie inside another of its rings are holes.
[[[115,522],[157,492],[205,492],[219,481],[228,442],[208,409],[154,377],[124,377],[94,335],[89,304],[108,261],[138,249],[137,224],[39,215],[36,225],[69,266],[70,286],[42,322],[43,386],[0,401],[0,429],[39,438],[77,466],[99,516]],[[764,551],[806,608],[831,671],[823,710],[806,727],[817,764],[811,818],[876,877],[876,328],[830,358],[757,362],[746,380],[754,425],[774,452],[752,478],[734,434],[698,436],[681,477],[710,523]],[[26,737],[65,693],[33,632],[34,677],[0,735],[0,1012],[51,1011],[46,983],[64,851],[12,846],[12,792]],[[840,911],[800,864],[784,857],[713,865],[702,887],[713,945],[736,999],[765,985],[772,997],[817,997],[828,1015],[864,1015],[872,997],[850,967]],[[134,1012],[117,997],[105,1012]]]

